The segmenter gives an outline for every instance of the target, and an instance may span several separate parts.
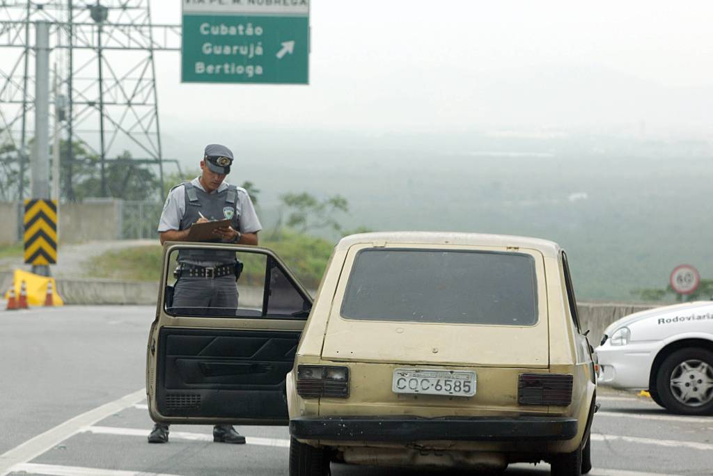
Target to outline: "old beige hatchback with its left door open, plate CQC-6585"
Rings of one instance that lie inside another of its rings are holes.
[[[172,260],[195,246],[165,245],[155,420],[289,423],[290,475],[330,462],[590,470],[595,374],[557,244],[357,234],[335,247],[314,303],[269,249],[202,244],[245,264],[238,308],[176,309]]]

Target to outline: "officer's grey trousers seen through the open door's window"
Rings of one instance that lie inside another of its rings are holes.
[[[181,276],[174,286],[173,307],[237,308],[235,276],[190,278]]]

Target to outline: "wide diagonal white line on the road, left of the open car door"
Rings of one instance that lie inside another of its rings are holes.
[[[47,430],[40,435],[37,435],[25,443],[14,447],[12,450],[4,452],[0,455],[0,476],[4,476],[11,471],[11,468],[15,465],[19,465],[24,462],[38,457],[43,452],[55,447],[62,441],[76,434],[82,428],[86,428],[88,425],[93,425],[99,420],[103,420],[109,415],[113,415],[124,408],[130,407],[134,403],[140,402],[146,398],[146,390],[136,390],[134,393],[130,393],[125,397],[114,400],[113,402],[106,403],[100,407],[89,410],[86,413],[77,415],[74,418],[67,420],[60,425],[57,425],[50,430]]]

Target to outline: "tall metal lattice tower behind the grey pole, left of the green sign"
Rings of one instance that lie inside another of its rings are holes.
[[[163,189],[154,53],[180,49],[180,25],[152,24],[148,0],[0,0],[0,146],[10,145],[0,149],[0,200],[27,197],[38,21],[49,23],[58,84],[50,100],[63,113],[63,197],[75,198],[78,159],[68,145],[77,142],[99,157],[103,197],[109,196],[106,167],[124,151],[155,167]]]

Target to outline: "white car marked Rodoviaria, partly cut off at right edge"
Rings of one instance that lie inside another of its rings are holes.
[[[673,413],[713,414],[713,301],[630,314],[595,349],[600,385],[649,390]]]

